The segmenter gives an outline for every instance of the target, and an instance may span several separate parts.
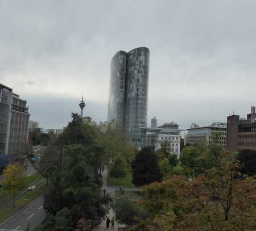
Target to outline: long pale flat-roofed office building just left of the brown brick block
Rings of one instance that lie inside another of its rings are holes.
[[[199,127],[193,123],[191,128],[187,129],[188,134],[185,137],[186,144],[193,145],[196,142],[203,142],[205,144],[212,144],[214,133],[220,135],[217,144],[226,149],[226,123],[213,123],[209,126]]]

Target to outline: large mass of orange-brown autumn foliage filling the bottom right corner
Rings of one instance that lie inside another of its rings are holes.
[[[131,230],[255,230],[255,180],[229,152],[218,161],[191,181],[172,176],[145,186],[140,204],[148,217]]]

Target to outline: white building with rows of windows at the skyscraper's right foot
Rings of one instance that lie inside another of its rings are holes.
[[[147,146],[151,146],[154,151],[161,148],[162,141],[170,142],[172,151],[180,156],[180,129],[175,122],[165,123],[159,127],[144,128],[147,133]]]

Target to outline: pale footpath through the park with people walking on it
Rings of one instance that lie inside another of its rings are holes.
[[[114,196],[114,192],[115,192],[116,188],[115,187],[107,187],[107,184],[106,184],[107,178],[108,178],[108,169],[105,168],[105,170],[102,173],[102,190],[105,188],[106,194],[109,194],[110,196]],[[109,217],[110,220],[112,219],[112,217],[114,217],[114,219],[115,219],[113,208],[110,208],[107,217]],[[111,224],[110,224],[110,227],[111,227]],[[102,230],[117,231],[118,230],[117,221],[115,221],[114,229],[106,228],[106,219],[104,219],[104,221],[102,221],[101,224],[97,228],[93,229],[93,231],[102,231]]]

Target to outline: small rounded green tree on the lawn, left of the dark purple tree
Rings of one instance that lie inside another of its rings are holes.
[[[113,164],[110,166],[110,177],[122,178],[126,176],[127,164],[121,154],[114,158]]]

